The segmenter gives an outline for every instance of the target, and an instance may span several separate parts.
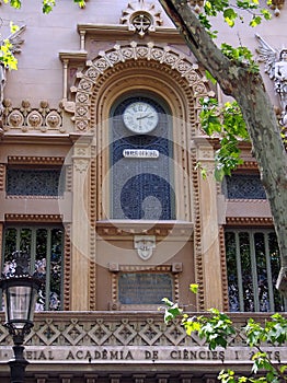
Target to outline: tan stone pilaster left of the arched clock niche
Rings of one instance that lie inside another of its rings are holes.
[[[91,143],[80,138],[72,155],[71,310],[89,310],[90,298],[90,161]]]

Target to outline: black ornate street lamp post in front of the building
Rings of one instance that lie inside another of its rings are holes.
[[[11,383],[24,383],[28,361],[24,358],[23,343],[25,335],[30,334],[34,326],[35,303],[42,281],[30,274],[28,254],[14,252],[12,256],[15,267],[7,275],[2,274],[0,288],[4,297],[4,326],[12,335],[14,343],[14,357],[8,362],[11,370]]]

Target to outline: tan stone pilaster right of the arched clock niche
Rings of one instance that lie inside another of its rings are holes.
[[[197,143],[197,161],[200,162],[202,167],[206,171],[206,178],[200,174],[198,175],[205,309],[216,307],[223,310],[214,148],[205,139]]]

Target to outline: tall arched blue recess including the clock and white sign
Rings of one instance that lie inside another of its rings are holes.
[[[111,117],[112,218],[175,219],[167,105],[150,94],[128,95]]]

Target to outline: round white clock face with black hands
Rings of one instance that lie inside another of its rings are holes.
[[[146,135],[157,127],[159,115],[149,103],[136,101],[125,108],[123,120],[125,126],[134,134]]]

